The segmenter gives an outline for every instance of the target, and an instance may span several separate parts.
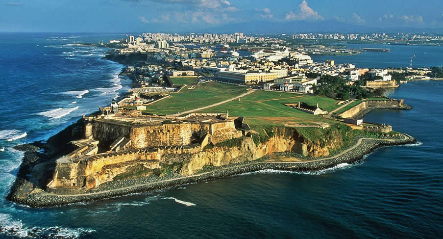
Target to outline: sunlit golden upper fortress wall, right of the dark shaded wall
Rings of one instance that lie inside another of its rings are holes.
[[[191,124],[164,124],[133,128],[130,140],[133,148],[148,146],[188,145],[191,143]]]

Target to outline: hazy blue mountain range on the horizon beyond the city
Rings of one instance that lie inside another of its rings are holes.
[[[324,21],[292,21],[292,22],[269,22],[254,21],[245,23],[226,24],[218,27],[209,27],[200,32],[244,32],[244,33],[295,33],[295,32],[344,32],[344,33],[365,33],[365,32],[432,32],[442,33],[443,28],[414,28],[414,27],[368,27],[341,23],[334,20]]]

